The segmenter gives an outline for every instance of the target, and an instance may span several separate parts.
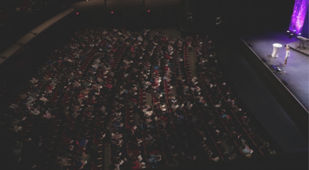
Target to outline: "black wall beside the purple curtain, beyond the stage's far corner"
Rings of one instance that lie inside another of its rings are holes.
[[[286,30],[294,1],[282,0],[190,0],[195,31],[250,33]],[[215,24],[216,17],[222,22]]]

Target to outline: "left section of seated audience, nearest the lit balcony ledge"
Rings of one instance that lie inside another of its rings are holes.
[[[1,114],[5,117],[1,128],[7,146],[4,153],[9,155],[8,162],[14,162],[11,166],[52,167],[55,154],[60,167],[102,166],[102,144],[108,142],[109,134],[104,131],[108,82],[127,45],[126,37],[124,30],[117,29],[79,31],[52,53],[39,68],[39,76],[31,78]]]

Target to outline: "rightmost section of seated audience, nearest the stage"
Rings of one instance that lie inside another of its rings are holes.
[[[232,90],[226,84],[219,69],[220,66],[217,63],[214,45],[210,38],[205,36],[204,39],[201,39],[196,35],[195,40],[188,38],[187,41],[192,43],[190,49],[195,51],[197,61],[195,65],[203,82],[205,95],[209,97],[202,101],[206,104],[199,110],[207,110],[206,114],[211,111],[217,112],[217,114],[211,113],[211,116],[209,114],[203,115],[205,121],[208,122],[208,130],[214,141],[221,142],[224,138],[230,136],[226,140],[226,144],[230,149],[225,149],[221,144],[215,144],[220,149],[223,158],[229,156],[228,160],[232,160],[238,157],[236,150],[233,149],[234,144],[245,155],[258,154],[258,151],[261,154],[273,153],[271,149],[261,150],[264,146],[268,147],[269,143],[260,139],[259,135],[255,133],[256,128],[249,122],[249,115],[240,107],[244,106],[244,104],[238,102],[237,97],[234,96]],[[205,98],[205,95],[202,95],[202,97]],[[211,106],[213,107],[211,108]],[[221,121],[213,121],[211,117],[214,116],[221,119]],[[224,126],[225,128],[223,128]]]

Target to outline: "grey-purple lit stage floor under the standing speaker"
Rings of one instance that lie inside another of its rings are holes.
[[[263,34],[242,35],[241,38],[251,44],[252,50],[260,57],[267,60],[267,65],[273,64],[280,67],[286,74],[275,75],[280,80],[285,80],[286,86],[293,95],[308,109],[309,103],[309,57],[297,51],[291,50],[286,66],[283,66],[285,57],[284,44],[295,42],[296,37],[288,38],[285,32],[266,32]],[[272,57],[272,44],[280,43],[279,57]],[[299,42],[298,42],[299,45]],[[298,46],[297,45],[297,46]],[[308,49],[306,49],[308,50]]]

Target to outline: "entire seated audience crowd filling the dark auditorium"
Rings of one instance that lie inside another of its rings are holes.
[[[5,135],[14,139],[7,159],[29,168],[99,168],[109,144],[110,169],[140,169],[232,160],[240,156],[234,144],[243,154],[258,152],[244,135],[268,148],[226,88],[211,45],[160,30],[77,31],[1,113]],[[193,48],[205,63],[200,78],[190,70]],[[228,148],[225,138],[234,141]]]

